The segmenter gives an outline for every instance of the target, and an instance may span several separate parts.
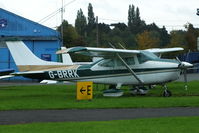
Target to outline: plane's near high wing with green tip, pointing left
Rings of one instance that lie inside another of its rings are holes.
[[[139,50],[126,50],[126,49],[114,49],[114,48],[94,48],[94,47],[72,47],[67,50],[57,51],[57,54],[64,53],[77,53],[87,55],[91,57],[104,57],[112,58],[115,54],[119,53],[122,57],[129,57],[135,54],[139,54]]]

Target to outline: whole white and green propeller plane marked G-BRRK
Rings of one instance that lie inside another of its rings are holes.
[[[89,64],[67,61],[49,62],[36,57],[22,41],[6,42],[19,72],[13,76],[24,76],[39,80],[53,81],[92,81],[108,84],[104,96],[122,95],[121,86],[132,87],[133,93],[145,94],[152,85],[163,85],[163,96],[171,96],[166,83],[175,81],[182,71],[192,67],[188,62],[178,59],[162,59],[166,52],[181,51],[183,48],[164,48],[146,50],[127,50],[116,48],[72,47],[60,50],[57,54],[80,54],[97,57]],[[185,75],[186,80],[186,75]]]

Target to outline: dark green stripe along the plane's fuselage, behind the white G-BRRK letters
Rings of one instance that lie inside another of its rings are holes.
[[[176,63],[174,60],[158,59],[159,61]],[[116,69],[111,70],[91,70],[91,68],[97,64],[99,61],[89,64],[79,66],[77,69],[71,70],[57,70],[45,72],[45,79],[62,79],[62,80],[78,80],[78,79],[89,79],[89,78],[107,78],[107,77],[118,77],[118,76],[128,76],[131,73],[127,69]],[[110,69],[110,68],[109,68]],[[165,68],[137,68],[132,69],[137,75],[141,74],[156,74],[163,72],[174,72],[179,71],[178,67],[165,67]],[[44,76],[44,75],[43,75]],[[43,77],[42,76],[42,77]]]

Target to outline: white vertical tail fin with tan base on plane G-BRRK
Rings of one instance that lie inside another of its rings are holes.
[[[44,61],[35,56],[22,41],[6,42],[19,71],[36,71],[66,66],[64,63]]]

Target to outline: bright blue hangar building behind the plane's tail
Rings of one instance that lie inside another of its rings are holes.
[[[61,45],[59,32],[0,8],[0,70],[13,68],[18,71],[5,45],[9,40],[22,40],[43,60],[58,60],[55,52]],[[12,79],[25,80],[22,77]]]

